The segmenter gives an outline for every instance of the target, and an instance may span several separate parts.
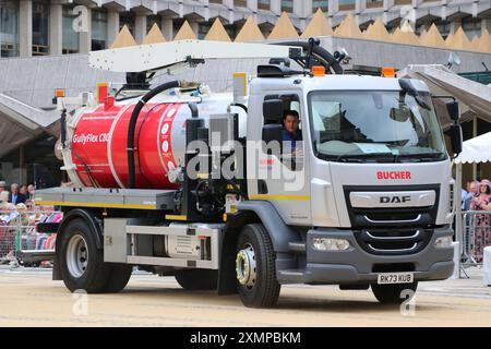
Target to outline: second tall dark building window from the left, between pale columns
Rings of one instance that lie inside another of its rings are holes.
[[[33,1],[33,56],[49,53],[49,3]]]

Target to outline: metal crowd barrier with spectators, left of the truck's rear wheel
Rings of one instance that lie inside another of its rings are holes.
[[[57,210],[0,210],[0,264],[38,265],[55,254],[56,231],[37,232],[38,222],[61,218]]]

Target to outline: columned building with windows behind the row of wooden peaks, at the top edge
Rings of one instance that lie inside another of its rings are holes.
[[[417,33],[435,23],[444,37],[459,26],[469,39],[491,32],[491,0],[0,0],[0,50],[31,57],[104,49],[124,24],[137,43],[154,23],[172,39],[184,20],[203,38],[216,17],[233,39],[251,15],[267,37],[283,11],[302,32],[319,8],[334,26],[352,12],[361,28],[381,17],[388,29],[409,19]]]

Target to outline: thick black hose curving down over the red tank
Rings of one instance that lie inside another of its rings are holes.
[[[130,124],[128,128],[128,140],[127,140],[127,155],[128,155],[128,188],[134,189],[134,174],[135,174],[135,166],[134,166],[134,132],[136,129],[136,122],[139,120],[140,111],[142,110],[143,106],[154,98],[159,93],[163,93],[166,89],[179,87],[180,82],[175,80],[170,81],[168,83],[164,83],[161,85],[158,85],[155,88],[152,88],[148,91],[142,98],[140,98],[139,103],[133,109],[133,112],[131,113]]]

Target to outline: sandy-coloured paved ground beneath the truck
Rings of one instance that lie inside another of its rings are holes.
[[[467,272],[469,279],[420,284],[416,308],[403,314],[371,291],[334,286],[284,286],[277,308],[247,309],[237,296],[184,291],[143,273],[121,293],[77,296],[49,269],[2,266],[0,326],[491,326],[491,287],[481,270]]]

